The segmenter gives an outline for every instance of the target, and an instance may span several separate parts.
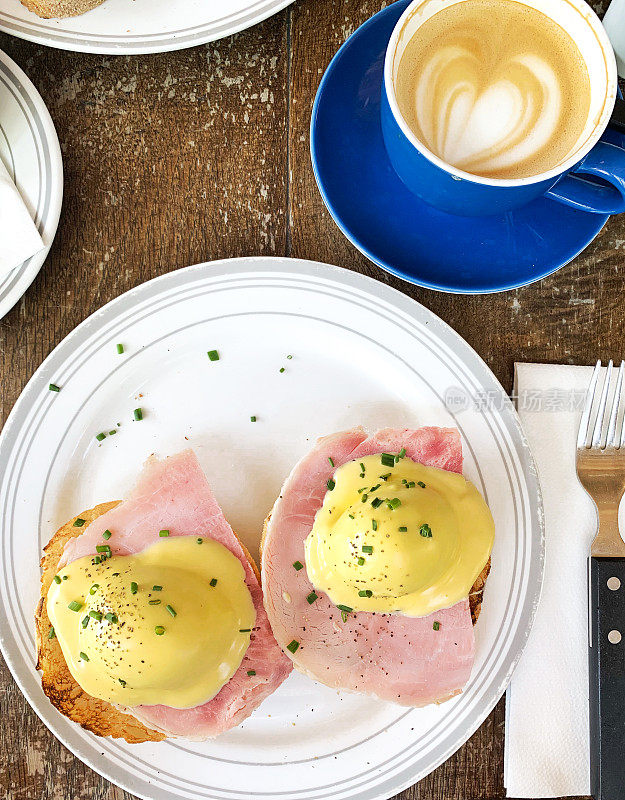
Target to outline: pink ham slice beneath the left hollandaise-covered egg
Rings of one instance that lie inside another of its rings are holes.
[[[215,539],[243,564],[256,608],[256,625],[243,661],[228,683],[212,700],[195,708],[126,709],[149,728],[187,739],[212,738],[238,725],[280,686],[292,666],[276,644],[256,574],[213,497],[195,453],[185,450],[163,461],[148,462],[129,497],[67,543],[60,566],[94,554],[107,528],[114,534],[107,542],[114,555],[139,552],[159,541],[160,530],[168,529],[170,536]],[[249,676],[252,669],[256,674]]]

